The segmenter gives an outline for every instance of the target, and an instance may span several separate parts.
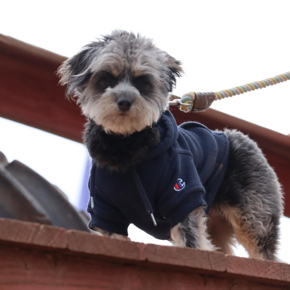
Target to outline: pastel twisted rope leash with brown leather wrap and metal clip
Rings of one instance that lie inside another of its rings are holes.
[[[266,78],[265,80],[247,83],[242,86],[218,92],[189,92],[184,94],[181,98],[178,97],[179,99],[169,101],[166,109],[168,109],[169,106],[179,106],[179,109],[183,112],[202,112],[208,109],[213,101],[244,94],[259,88],[266,88],[268,86],[276,85],[277,83],[283,83],[287,80],[290,80],[290,72],[285,72],[281,75],[276,75],[273,78]]]

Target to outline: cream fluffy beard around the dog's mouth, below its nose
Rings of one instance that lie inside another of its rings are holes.
[[[87,98],[86,103],[81,104],[81,108],[83,114],[94,120],[97,125],[102,125],[106,133],[125,136],[156,123],[162,112],[158,104],[154,104],[154,101],[149,102],[142,96],[134,99],[127,112],[122,112],[117,106],[115,96],[110,92],[98,98]]]

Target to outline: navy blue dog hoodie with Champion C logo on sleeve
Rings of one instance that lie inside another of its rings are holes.
[[[190,212],[200,206],[209,210],[227,166],[227,137],[196,122],[177,126],[169,111],[162,114],[157,127],[160,144],[131,171],[111,172],[93,162],[89,185],[94,208],[89,201],[89,228],[128,236],[127,228],[133,223],[167,240],[170,228]],[[150,209],[157,226],[148,215]]]

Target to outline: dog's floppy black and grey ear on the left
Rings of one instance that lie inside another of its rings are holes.
[[[64,61],[58,68],[59,83],[67,86],[67,97],[73,96],[75,91],[83,90],[83,86],[93,74],[90,65],[104,44],[104,41],[88,43],[80,52]]]

